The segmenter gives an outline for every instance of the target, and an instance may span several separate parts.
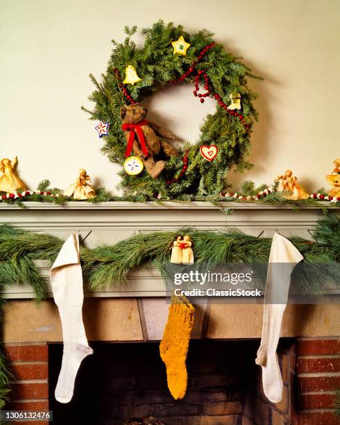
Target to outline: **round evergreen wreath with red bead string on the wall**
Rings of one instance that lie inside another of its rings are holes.
[[[247,78],[260,77],[251,74],[250,69],[231,53],[224,51],[222,44],[214,42],[212,33],[206,30],[190,34],[181,25],[161,20],[151,28],[144,28],[144,47],[139,48],[131,40],[137,26],[125,27],[127,34],[123,43],[112,40],[114,48],[108,68],[99,83],[90,74],[96,90],[89,99],[95,103],[90,119],[110,123],[108,135],[103,140],[102,151],[112,163],[122,165],[126,140],[121,129],[119,115],[124,104],[143,101],[169,83],[194,83],[194,95],[204,103],[204,97],[214,97],[216,111],[207,115],[201,126],[201,136],[196,144],[186,143],[180,155],[167,161],[166,168],[151,178],[144,171],[137,176],[119,172],[121,188],[127,195],[144,195],[146,199],[216,199],[224,188],[228,171],[238,172],[250,169],[248,162],[250,131],[257,119],[253,101],[257,94],[247,86]],[[173,53],[171,42],[182,36],[190,44],[187,54]],[[135,85],[122,82],[127,65],[133,65],[141,78]],[[197,94],[198,83],[205,84],[204,94]],[[228,110],[230,94],[241,95],[241,113]],[[205,160],[200,153],[203,144],[214,144],[218,153],[213,161]]]

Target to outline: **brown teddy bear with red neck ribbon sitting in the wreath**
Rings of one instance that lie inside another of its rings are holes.
[[[147,109],[139,103],[134,103],[121,108],[121,119],[126,137],[126,161],[124,163],[125,171],[131,176],[142,172],[145,167],[146,172],[155,178],[163,171],[166,161],[160,159],[164,156],[171,158],[178,156],[178,151],[164,139],[175,140],[171,131],[166,130],[148,121],[146,118]],[[131,156],[131,153],[134,153]]]

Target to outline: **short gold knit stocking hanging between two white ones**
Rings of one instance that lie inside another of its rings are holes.
[[[194,312],[186,297],[173,295],[167,326],[160,342],[160,356],[167,367],[168,387],[175,400],[185,397],[187,391],[185,360],[194,325]]]

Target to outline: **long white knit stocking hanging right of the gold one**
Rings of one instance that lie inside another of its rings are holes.
[[[288,301],[291,272],[301,260],[303,256],[298,249],[289,240],[275,233],[264,294],[262,339],[255,360],[255,363],[262,367],[264,394],[272,403],[278,403],[282,399],[283,383],[276,349]]]

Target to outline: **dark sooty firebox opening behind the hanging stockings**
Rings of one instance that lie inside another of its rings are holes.
[[[291,343],[281,342],[282,367]],[[62,404],[54,399],[62,344],[49,344],[53,424],[142,424],[144,418],[155,417],[160,421],[155,424],[166,425],[270,425],[279,413],[282,422],[275,423],[290,423],[285,422],[289,404],[270,406],[261,395],[260,367],[255,365],[259,340],[192,340],[187,395],[180,401],[173,400],[167,388],[158,342],[96,342],[91,346],[94,354],[80,366],[74,397]]]

